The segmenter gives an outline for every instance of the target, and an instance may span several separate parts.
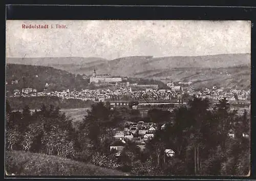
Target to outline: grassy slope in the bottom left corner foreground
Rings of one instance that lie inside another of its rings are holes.
[[[6,152],[6,171],[15,175],[126,175],[114,169],[97,167],[59,156],[24,151]]]

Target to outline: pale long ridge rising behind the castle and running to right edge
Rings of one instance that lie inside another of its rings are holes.
[[[123,57],[97,65],[99,74],[147,77],[147,73],[161,73],[176,68],[220,68],[250,64],[250,54],[209,55],[196,57]],[[83,66],[78,73],[90,74],[94,66]],[[143,74],[141,74],[143,73]],[[140,75],[141,74],[141,75]]]

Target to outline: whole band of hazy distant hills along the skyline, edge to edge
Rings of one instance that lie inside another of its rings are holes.
[[[7,58],[7,63],[53,66],[75,74],[91,74],[94,69],[99,74],[133,76],[146,71],[165,71],[174,68],[221,68],[250,64],[250,54],[221,54],[207,56],[153,57],[132,56],[113,60],[98,57],[45,57]]]

